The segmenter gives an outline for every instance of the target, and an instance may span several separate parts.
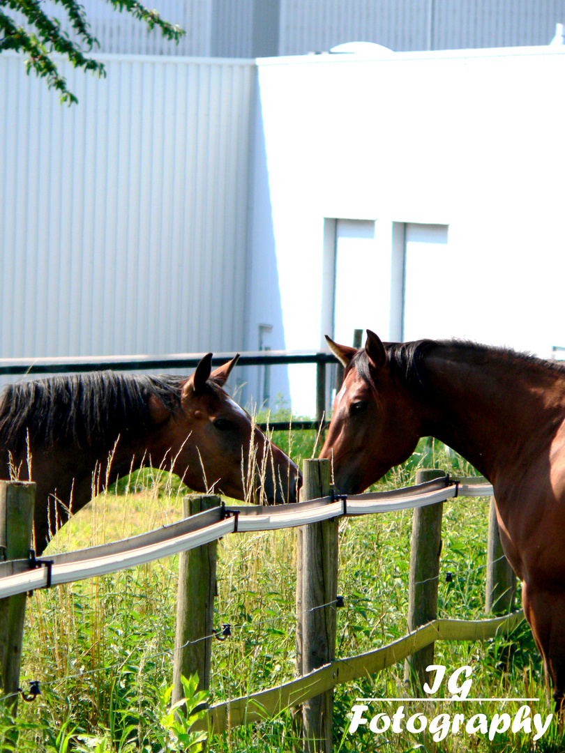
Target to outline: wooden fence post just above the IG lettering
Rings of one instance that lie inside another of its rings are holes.
[[[422,468],[416,483],[444,476],[444,471]],[[441,552],[441,517],[443,502],[414,508],[408,583],[408,630],[415,630],[438,616],[439,554]],[[410,683],[418,695],[428,681],[426,666],[433,664],[433,643],[405,660],[405,684]]]

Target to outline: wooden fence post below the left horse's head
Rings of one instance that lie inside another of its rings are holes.
[[[185,517],[221,504],[217,495],[189,495],[183,502]],[[198,689],[207,691],[210,687],[212,638],[204,636],[212,636],[217,545],[212,541],[179,554],[173,703],[185,697],[181,675],[188,678],[197,672]]]

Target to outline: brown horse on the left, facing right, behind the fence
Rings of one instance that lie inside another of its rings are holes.
[[[0,478],[36,483],[38,553],[70,514],[141,465],[173,471],[194,491],[237,499],[254,484],[296,501],[300,473],[223,386],[238,356],[187,377],[98,372],[8,386],[0,395]]]

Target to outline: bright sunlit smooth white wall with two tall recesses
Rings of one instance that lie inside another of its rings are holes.
[[[383,338],[399,337],[390,291],[402,279],[403,230],[426,224],[447,226],[448,237],[421,281],[423,322],[441,322],[429,334],[543,356],[565,343],[561,50],[271,58],[258,60],[258,71],[266,161],[255,153],[254,169],[267,171],[269,191],[255,192],[252,207],[272,217],[280,304],[278,296],[276,306],[267,297],[258,303],[255,282],[249,331],[280,305],[281,345],[316,348],[328,326],[328,227],[335,218],[376,218],[375,239],[396,280],[372,281],[375,310],[389,296]],[[263,245],[258,233],[255,280]],[[409,245],[409,288],[415,251]],[[423,258],[418,264],[426,267]],[[362,273],[359,285],[367,285]],[[289,370],[299,413],[313,410],[313,370],[305,371]]]

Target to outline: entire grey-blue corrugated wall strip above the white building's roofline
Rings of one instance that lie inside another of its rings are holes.
[[[153,0],[151,8],[187,32],[175,44],[108,3],[82,5],[100,51],[126,54],[276,55],[276,39],[270,40],[276,29],[279,55],[330,50],[347,41],[399,52],[519,47],[548,44],[555,24],[565,23],[565,0]],[[44,8],[73,35],[59,5],[47,0]]]

